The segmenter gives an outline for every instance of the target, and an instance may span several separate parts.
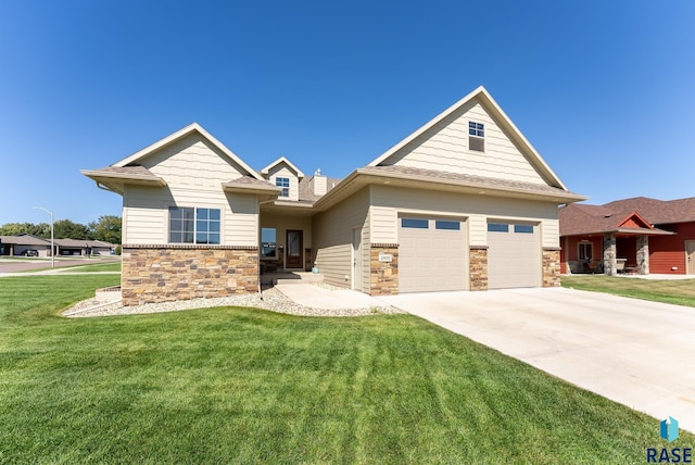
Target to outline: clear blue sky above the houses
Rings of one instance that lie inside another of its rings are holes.
[[[0,225],[198,122],[344,177],[484,85],[591,203],[695,196],[695,1],[0,1]]]

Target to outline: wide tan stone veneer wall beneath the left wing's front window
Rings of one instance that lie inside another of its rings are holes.
[[[229,246],[123,246],[124,305],[258,290],[258,250]]]

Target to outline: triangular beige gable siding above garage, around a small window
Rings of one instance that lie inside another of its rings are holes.
[[[484,152],[468,148],[468,123],[471,121],[485,125]],[[546,184],[476,99],[381,164]]]

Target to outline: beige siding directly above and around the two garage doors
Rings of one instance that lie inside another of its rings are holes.
[[[372,186],[371,204],[372,242],[399,243],[397,215],[407,212],[467,217],[470,246],[488,244],[488,218],[505,218],[538,223],[542,247],[559,247],[556,203]]]

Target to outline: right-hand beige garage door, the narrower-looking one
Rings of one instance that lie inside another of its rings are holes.
[[[528,224],[488,224],[488,288],[541,286],[539,227]]]

